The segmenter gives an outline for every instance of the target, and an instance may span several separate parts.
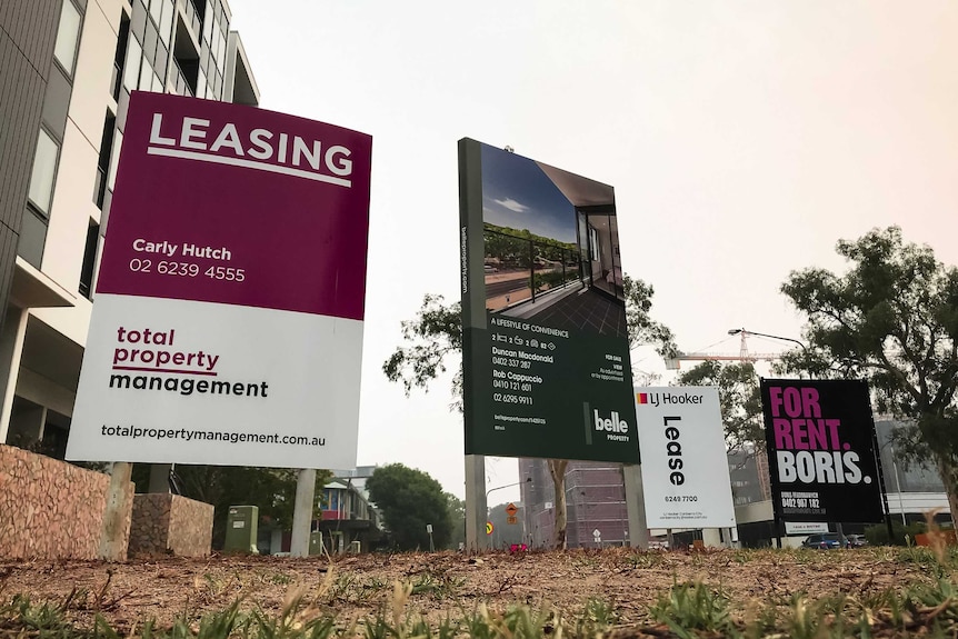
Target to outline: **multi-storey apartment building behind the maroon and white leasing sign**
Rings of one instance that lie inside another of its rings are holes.
[[[0,443],[63,457],[130,92],[259,103],[231,19],[226,0],[0,2]]]

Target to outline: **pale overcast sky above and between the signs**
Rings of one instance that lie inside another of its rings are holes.
[[[263,108],[373,138],[361,465],[465,493],[448,380],[406,399],[380,370],[425,293],[458,299],[462,137],[612,184],[625,271],[686,351],[799,337],[778,287],[842,269],[838,238],[897,223],[958,262],[954,0],[229,2]]]

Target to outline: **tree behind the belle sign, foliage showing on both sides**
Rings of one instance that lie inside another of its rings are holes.
[[[678,352],[675,336],[665,325],[650,316],[655,289],[628,274],[622,278],[626,298],[626,319],[629,326],[629,347],[655,345],[662,357]],[[429,389],[429,382],[445,373],[446,358],[462,352],[462,314],[459,302],[448,306],[442,296],[427,294],[416,319],[402,322],[400,346],[382,365],[390,381],[402,383],[407,397],[416,388]],[[462,411],[462,366],[452,378],[453,401],[450,409]],[[556,546],[566,547],[566,468],[567,460],[550,459],[549,473],[556,489]]]

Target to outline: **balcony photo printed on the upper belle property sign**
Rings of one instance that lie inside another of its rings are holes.
[[[576,178],[515,153],[482,154],[486,307],[625,338],[612,189],[596,189],[596,203],[577,208],[570,197],[583,180]]]

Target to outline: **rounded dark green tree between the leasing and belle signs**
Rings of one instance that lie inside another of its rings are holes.
[[[400,550],[429,548],[427,525],[432,525],[436,548],[449,543],[452,522],[442,486],[429,473],[401,463],[381,466],[366,481],[369,498],[382,511],[392,541]]]

